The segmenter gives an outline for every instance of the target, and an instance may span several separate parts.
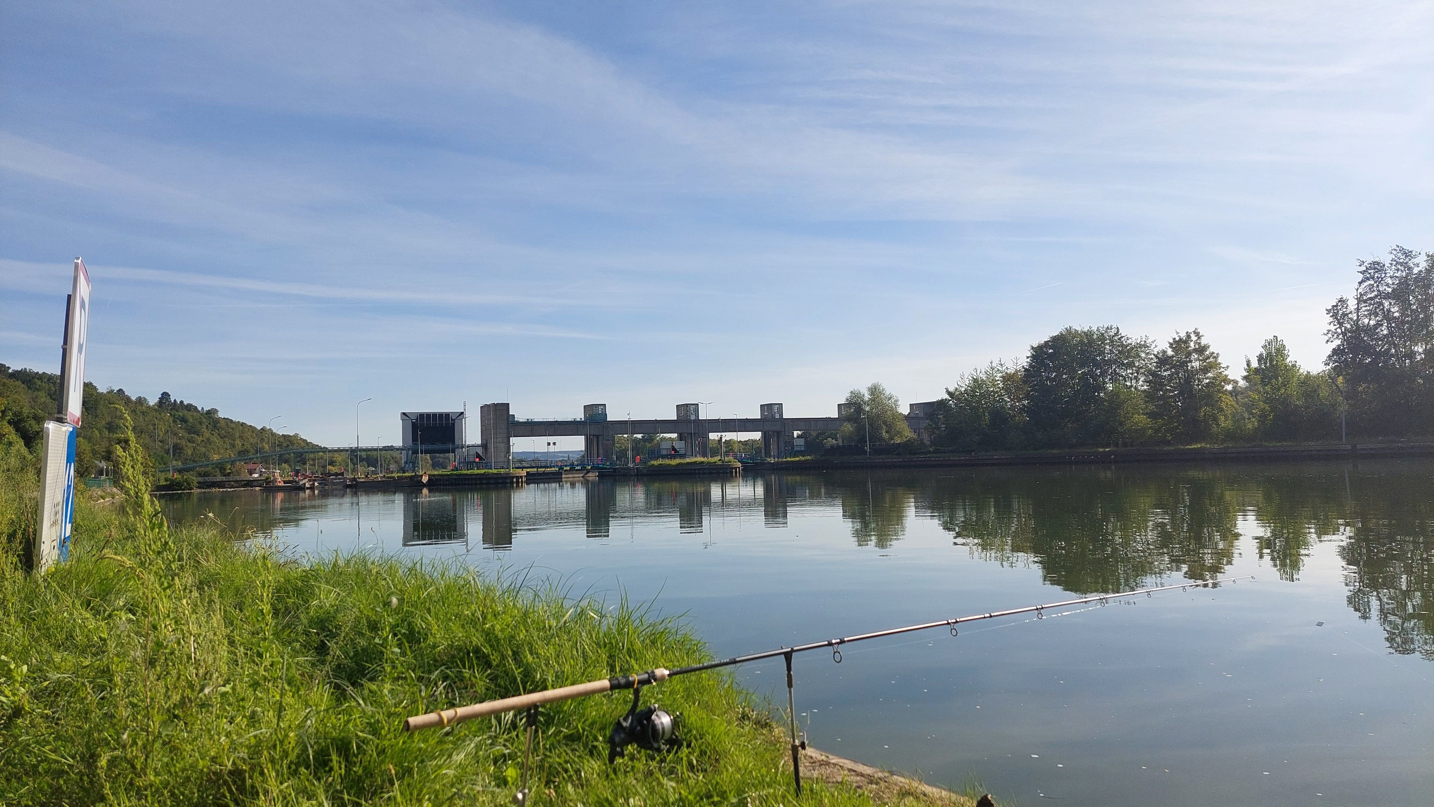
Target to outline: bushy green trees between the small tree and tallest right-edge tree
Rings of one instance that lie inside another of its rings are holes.
[[[997,363],[946,390],[931,441],[962,452],[1329,441],[1339,439],[1331,390],[1278,337],[1235,383],[1199,330],[1157,348],[1111,325],[1065,328],[1024,364]]]

